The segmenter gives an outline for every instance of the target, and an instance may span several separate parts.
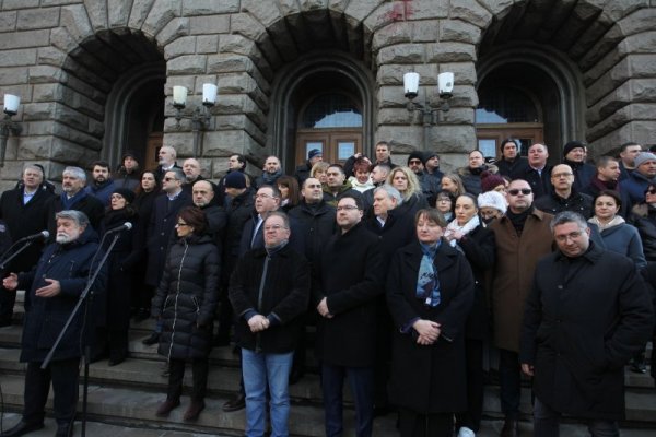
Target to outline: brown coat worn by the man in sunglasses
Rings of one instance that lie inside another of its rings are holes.
[[[549,228],[553,215],[535,210],[524,225],[522,237],[506,216],[490,228],[496,240],[496,265],[492,280],[492,319],[496,347],[518,352],[524,304],[532,285],[538,260],[551,253]]]

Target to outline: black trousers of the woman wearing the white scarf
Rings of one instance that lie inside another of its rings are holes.
[[[456,414],[458,427],[467,426],[478,433],[483,414],[483,341],[467,339],[465,342],[467,357],[467,411]]]

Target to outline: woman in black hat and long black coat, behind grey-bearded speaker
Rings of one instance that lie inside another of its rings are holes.
[[[131,203],[134,192],[127,188],[117,188],[109,198],[109,210],[101,222],[101,235],[105,236],[103,249],[107,250],[115,236],[116,245],[107,258],[107,290],[102,307],[104,307],[105,340],[109,350],[109,366],[122,363],[128,356],[128,330],[130,329],[130,298],[132,293],[131,265],[129,255],[134,245],[138,215]],[[130,229],[107,234],[125,223]],[[103,317],[101,318],[103,319]],[[101,324],[102,321],[101,321]]]

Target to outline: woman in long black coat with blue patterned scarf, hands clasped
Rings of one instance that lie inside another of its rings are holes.
[[[450,436],[467,410],[465,321],[473,302],[469,263],[442,238],[444,218],[420,210],[419,241],[389,264],[387,304],[395,321],[389,399],[402,437]]]

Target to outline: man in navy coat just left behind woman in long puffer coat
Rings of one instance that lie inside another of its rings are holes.
[[[162,191],[153,203],[153,211],[147,225],[147,251],[148,265],[145,269],[144,283],[153,288],[160,285],[168,245],[173,239],[177,213],[185,206],[194,204],[191,194],[183,191],[185,173],[180,168],[174,168],[164,174],[162,178]],[[157,326],[155,331],[142,341],[145,345],[152,345],[160,341],[162,327]]]

